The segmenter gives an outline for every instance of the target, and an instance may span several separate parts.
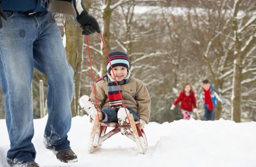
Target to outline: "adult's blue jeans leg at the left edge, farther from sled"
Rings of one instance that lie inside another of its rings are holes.
[[[33,76],[33,41],[35,21],[9,12],[0,29],[0,80],[5,96],[6,124],[11,147],[10,165],[34,162],[36,151],[30,86]],[[31,25],[31,26],[30,26]]]

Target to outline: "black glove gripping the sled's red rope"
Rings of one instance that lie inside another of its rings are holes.
[[[101,33],[97,20],[93,16],[89,15],[86,10],[77,16],[76,20],[80,24],[80,27],[83,29],[83,35],[90,35],[95,31],[97,33]]]

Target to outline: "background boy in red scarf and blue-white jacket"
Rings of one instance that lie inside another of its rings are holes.
[[[203,107],[205,108],[205,115],[203,116],[203,120],[205,121],[214,121],[217,99],[222,103],[222,105],[226,104],[224,98],[212,85],[210,85],[208,80],[203,81],[203,88],[200,91],[200,99],[203,103]]]

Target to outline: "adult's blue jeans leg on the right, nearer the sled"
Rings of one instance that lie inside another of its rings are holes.
[[[70,104],[74,93],[74,70],[66,60],[59,28],[47,22],[46,14],[34,14],[40,25],[34,42],[34,66],[47,76],[48,120],[45,128],[46,147],[54,153],[70,148],[67,133],[71,126]]]

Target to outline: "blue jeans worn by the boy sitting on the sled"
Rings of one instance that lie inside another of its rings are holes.
[[[128,110],[130,114],[133,115],[134,121],[140,120],[139,115],[135,111],[133,111],[132,109],[128,109]],[[114,109],[110,107],[106,107],[106,108],[103,108],[101,111],[102,111],[102,114],[105,116],[105,119],[102,120],[102,122],[106,122],[106,123],[118,122],[117,112]]]

